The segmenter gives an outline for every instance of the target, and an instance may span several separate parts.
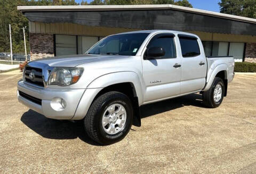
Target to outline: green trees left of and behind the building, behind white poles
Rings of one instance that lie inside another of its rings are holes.
[[[9,24],[12,32],[13,53],[24,53],[22,28],[28,27],[28,20],[17,10],[24,5],[79,5],[75,0],[0,0],[0,52],[10,52]],[[27,53],[29,53],[29,31],[26,31]]]

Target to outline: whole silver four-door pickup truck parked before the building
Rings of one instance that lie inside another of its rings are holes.
[[[96,142],[122,140],[140,126],[140,106],[201,92],[218,107],[234,77],[233,57],[205,57],[198,36],[151,30],[108,36],[84,55],[28,63],[18,100],[53,119],[82,120]]]

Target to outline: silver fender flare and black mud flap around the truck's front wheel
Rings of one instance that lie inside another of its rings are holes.
[[[86,92],[86,90],[88,92]],[[137,73],[116,72],[105,74],[92,81],[87,86],[86,90],[82,96],[81,102],[78,104],[79,112],[75,114],[74,119],[84,118],[94,100],[97,99],[101,94],[109,91],[118,91],[126,94],[131,99],[134,110],[133,125],[141,125],[139,106],[143,100],[143,92],[140,77]],[[93,92],[90,94],[90,91]],[[88,106],[87,103],[87,107],[81,109],[82,106],[80,105],[88,102],[88,98],[90,97],[90,105]]]

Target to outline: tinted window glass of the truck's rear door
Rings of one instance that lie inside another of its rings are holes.
[[[196,38],[179,37],[183,57],[194,57],[200,55],[200,49]]]

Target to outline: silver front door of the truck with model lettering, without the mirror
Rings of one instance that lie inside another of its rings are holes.
[[[143,56],[150,47],[162,47],[165,55],[154,59],[142,59],[143,79],[146,85],[144,103],[180,94],[181,59],[177,56],[175,41],[177,38],[172,33],[156,34],[149,41]]]

